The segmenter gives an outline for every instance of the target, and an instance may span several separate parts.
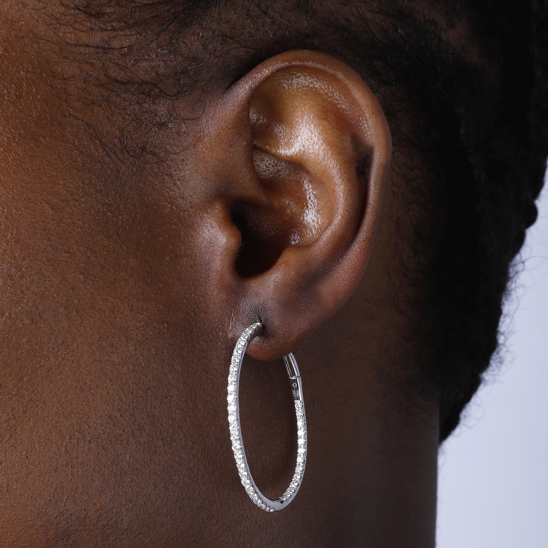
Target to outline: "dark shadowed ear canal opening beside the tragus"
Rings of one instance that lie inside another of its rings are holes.
[[[249,278],[270,270],[289,245],[289,235],[272,230],[272,225],[269,228],[264,219],[259,222],[256,206],[252,204],[232,204],[230,216],[242,235],[235,260],[238,275]]]

